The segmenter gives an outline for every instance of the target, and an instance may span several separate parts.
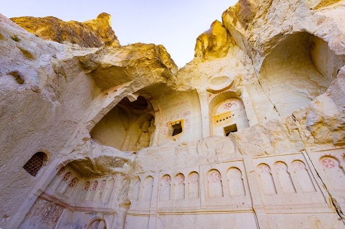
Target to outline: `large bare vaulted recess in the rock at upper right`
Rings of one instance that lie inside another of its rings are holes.
[[[259,122],[291,115],[326,92],[344,65],[328,43],[309,32],[278,34],[248,92]]]

